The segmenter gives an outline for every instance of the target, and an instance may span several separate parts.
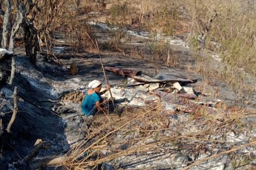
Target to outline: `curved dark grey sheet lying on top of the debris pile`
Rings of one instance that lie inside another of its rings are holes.
[[[153,77],[153,79],[160,81],[178,81],[179,83],[193,83],[197,81],[197,79],[191,80],[188,77],[179,75],[177,73],[159,73]]]

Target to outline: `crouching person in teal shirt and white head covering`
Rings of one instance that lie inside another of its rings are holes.
[[[101,82],[93,80],[88,84],[88,87],[90,89],[85,94],[82,103],[82,111],[84,115],[92,118],[97,112],[103,111],[100,105],[103,102],[101,94],[106,93],[110,89],[110,85],[108,84],[106,90],[100,92]]]

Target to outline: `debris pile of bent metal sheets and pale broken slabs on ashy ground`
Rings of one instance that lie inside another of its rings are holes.
[[[170,107],[170,103],[182,105],[180,99],[197,98],[192,86],[189,85],[197,79],[190,79],[177,73],[160,73],[149,77],[137,70],[114,67],[105,69],[127,77],[125,88],[111,89],[114,98],[121,104],[141,107],[157,102],[160,98],[163,110],[174,110],[176,107]]]

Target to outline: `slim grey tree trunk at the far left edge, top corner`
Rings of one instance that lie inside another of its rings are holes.
[[[9,17],[10,17],[10,0],[5,0],[5,15],[4,15],[4,22],[3,22],[3,37],[2,37],[2,48],[7,49],[8,46],[8,33],[10,29]]]

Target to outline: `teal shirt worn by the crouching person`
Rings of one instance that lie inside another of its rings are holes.
[[[102,98],[101,98],[100,94],[92,93],[89,95],[86,92],[85,98],[82,103],[82,111],[83,111],[84,115],[86,115],[86,116],[94,115],[97,111],[95,103],[98,101],[101,102],[101,100],[102,100]]]

